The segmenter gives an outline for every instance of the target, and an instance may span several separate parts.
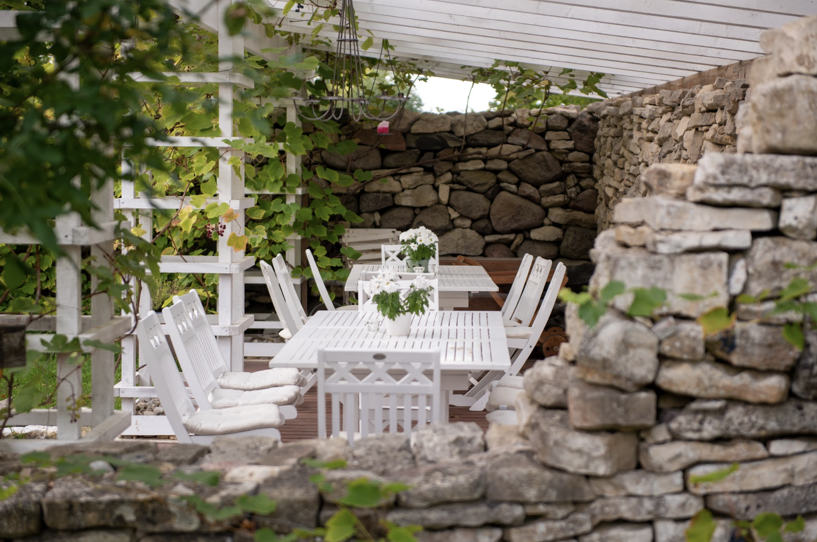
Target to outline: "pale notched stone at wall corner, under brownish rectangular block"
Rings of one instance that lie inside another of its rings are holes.
[[[538,409],[525,425],[538,460],[569,473],[610,476],[636,468],[635,433],[577,431],[565,411]]]

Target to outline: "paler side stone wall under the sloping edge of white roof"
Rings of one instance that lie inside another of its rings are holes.
[[[748,82],[718,78],[689,89],[591,104],[600,119],[593,156],[599,229],[623,198],[645,195],[641,175],[657,163],[695,164],[707,153],[734,153],[736,119]]]

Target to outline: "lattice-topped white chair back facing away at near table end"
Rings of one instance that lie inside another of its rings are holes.
[[[366,438],[400,426],[410,437],[412,429],[440,421],[440,350],[318,349],[319,438],[327,437],[327,394],[333,437],[344,430],[354,445],[355,433]]]

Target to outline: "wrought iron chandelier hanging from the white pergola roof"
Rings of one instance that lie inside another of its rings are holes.
[[[327,95],[322,98],[310,96],[308,99],[303,100],[301,103],[305,107],[298,109],[301,118],[310,121],[340,121],[348,115],[348,118],[354,122],[360,122],[364,119],[382,122],[397,117],[399,113],[402,114],[405,102],[408,101],[408,96],[404,96],[402,92],[398,92],[396,96],[391,96],[388,91],[382,91],[382,94],[373,98],[366,97],[364,69],[360,61],[360,48],[357,29],[355,28],[355,7],[352,5],[352,0],[342,0],[339,16],[341,20],[335,41],[335,65],[332,81],[326,82],[328,83],[326,85]],[[389,56],[388,49],[386,47],[384,49],[386,50],[386,56]],[[391,60],[391,56],[389,56],[389,60]],[[374,87],[379,71],[380,59],[377,60],[377,69],[375,70],[372,87]],[[372,90],[370,89],[370,91]],[[379,106],[373,107],[374,101],[381,103]],[[394,111],[386,110],[387,101],[397,102]],[[305,113],[303,109],[308,109],[311,114]]]

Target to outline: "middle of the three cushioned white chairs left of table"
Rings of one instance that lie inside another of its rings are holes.
[[[218,349],[213,351],[210,341],[196,333],[185,305],[172,304],[162,309],[162,313],[167,335],[170,335],[181,371],[185,374],[187,385],[190,386],[190,392],[193,393],[200,409],[258,404],[282,406],[303,402],[301,388],[296,384],[266,389],[222,389],[212,371],[215,364],[212,357],[216,355]]]

